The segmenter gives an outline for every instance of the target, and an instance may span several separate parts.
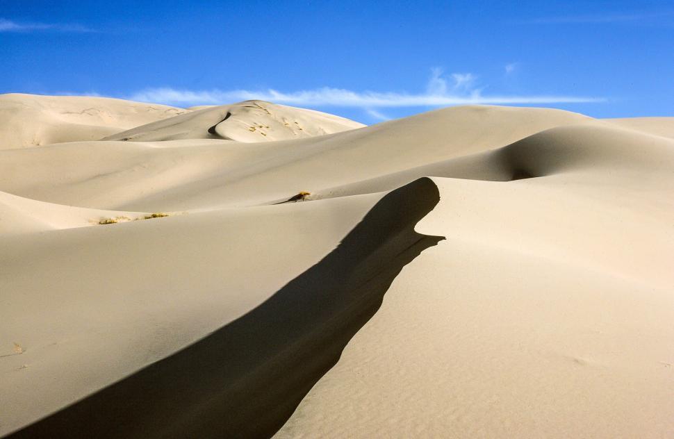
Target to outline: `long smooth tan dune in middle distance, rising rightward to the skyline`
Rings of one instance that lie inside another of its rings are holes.
[[[197,135],[219,117],[193,124]],[[158,147],[166,142],[63,144],[6,151],[0,190],[111,210],[250,206],[503,147],[587,120],[561,110],[469,106],[295,141],[180,140],[169,142],[170,148]],[[15,171],[28,163],[32,176]]]

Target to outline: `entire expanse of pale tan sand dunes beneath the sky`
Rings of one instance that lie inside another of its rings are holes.
[[[0,96],[0,435],[674,436],[673,118],[169,109]]]

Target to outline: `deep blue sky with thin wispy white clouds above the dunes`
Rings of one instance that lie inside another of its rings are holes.
[[[0,0],[0,92],[674,116],[672,1]]]

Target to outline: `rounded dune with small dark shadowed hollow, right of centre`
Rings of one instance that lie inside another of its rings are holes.
[[[664,139],[610,125],[560,126],[498,149],[325,188],[313,194],[312,199],[391,190],[422,176],[507,182],[569,172],[597,176],[614,169],[655,170],[656,161],[658,167],[674,163],[671,146]]]

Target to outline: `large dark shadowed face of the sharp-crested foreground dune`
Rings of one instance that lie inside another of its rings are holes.
[[[400,270],[444,238],[418,179],[381,198],[340,245],[251,312],[12,438],[272,436],[374,315]]]

